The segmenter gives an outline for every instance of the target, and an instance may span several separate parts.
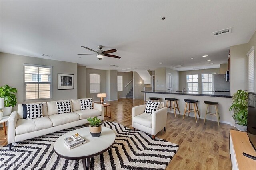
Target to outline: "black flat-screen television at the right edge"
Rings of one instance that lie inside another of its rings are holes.
[[[256,93],[248,92],[247,135],[256,149]]]

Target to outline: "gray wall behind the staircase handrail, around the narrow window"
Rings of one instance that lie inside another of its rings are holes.
[[[132,80],[132,78],[133,78],[133,73],[132,72],[117,72],[117,75],[123,76],[123,91],[117,92],[117,96],[118,96],[118,98],[125,98],[126,94],[129,93],[129,91],[133,87],[133,82],[130,82],[130,80]],[[128,84],[128,86],[125,87],[128,82],[130,82],[130,84]]]

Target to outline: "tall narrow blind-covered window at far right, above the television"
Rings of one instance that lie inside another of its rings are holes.
[[[254,50],[248,57],[248,90],[254,92]]]

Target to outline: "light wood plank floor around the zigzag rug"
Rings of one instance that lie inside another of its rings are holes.
[[[114,121],[126,127],[132,128],[132,107],[144,104],[138,99],[119,99],[111,101],[111,119],[105,117],[105,121]],[[105,108],[106,112],[106,108]],[[108,111],[109,113],[109,111]],[[176,169],[225,169],[231,170],[229,159],[229,129],[235,129],[230,125],[200,119],[195,122],[194,117],[168,113],[166,132],[160,131],[156,137],[166,139],[180,145],[178,152],[167,166],[167,170]],[[0,137],[4,137],[3,129]],[[7,145],[7,141],[1,140],[0,145]]]

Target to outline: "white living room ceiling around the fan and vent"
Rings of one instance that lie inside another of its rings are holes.
[[[123,72],[218,68],[230,46],[248,43],[256,30],[256,1],[1,0],[0,8],[1,52]],[[228,27],[231,34],[213,36]],[[77,55],[98,45],[122,58]]]

